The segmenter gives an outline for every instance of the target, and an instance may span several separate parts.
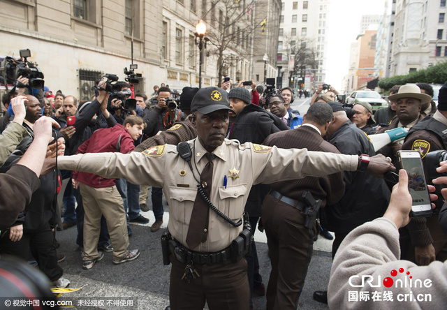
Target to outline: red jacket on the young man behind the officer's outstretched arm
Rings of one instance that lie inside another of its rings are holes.
[[[121,139],[119,139],[120,135]],[[80,145],[76,154],[117,152],[118,140],[120,144],[119,152],[126,154],[135,149],[131,135],[129,135],[122,125],[116,124],[113,127],[95,131],[89,140]],[[105,179],[99,175],[87,172],[73,171],[73,179],[96,188],[115,185],[115,179]]]

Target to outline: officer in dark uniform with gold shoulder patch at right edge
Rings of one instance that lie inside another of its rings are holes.
[[[399,94],[393,97],[397,95]],[[408,97],[412,96],[402,94],[399,98],[402,100]],[[420,100],[426,98],[426,102],[430,102],[430,96],[427,94],[418,94],[416,98]],[[437,112],[427,115],[413,126],[402,145],[402,149],[417,150],[423,161],[428,152],[447,149],[447,82],[439,89],[438,100]],[[440,193],[438,197],[441,197]],[[441,202],[440,205],[439,202]],[[437,209],[434,210],[433,216],[413,218],[407,226],[400,229],[402,259],[411,260],[418,265],[429,265],[435,259],[443,262],[447,259],[447,237],[442,232],[438,221],[438,212],[443,200],[439,202],[435,202]]]

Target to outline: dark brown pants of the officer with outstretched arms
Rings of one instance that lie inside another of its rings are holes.
[[[202,310],[205,301],[210,310],[248,310],[249,281],[247,261],[194,265],[198,274],[190,283],[182,280],[186,264],[170,256],[170,309]]]

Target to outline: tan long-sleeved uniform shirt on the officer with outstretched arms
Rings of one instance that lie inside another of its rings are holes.
[[[169,231],[184,246],[189,220],[197,195],[199,172],[205,168],[205,148],[197,139],[190,140],[191,164],[182,159],[175,145],[151,147],[131,154],[79,154],[59,158],[59,169],[95,173],[103,177],[124,177],[133,184],[163,187],[169,203]],[[225,140],[214,149],[214,170],[210,200],[226,216],[239,221],[251,186],[281,180],[319,177],[357,169],[358,156],[308,152],[307,149],[278,149],[249,142]],[[203,158],[205,158],[203,160]],[[195,176],[195,177],[194,177]],[[227,185],[223,185],[224,177]],[[200,198],[201,199],[201,198]],[[194,251],[215,252],[225,249],[239,235],[242,226],[234,228],[210,210],[208,237]]]

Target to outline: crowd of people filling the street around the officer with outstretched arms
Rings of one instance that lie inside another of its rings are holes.
[[[389,107],[375,114],[369,103],[346,108],[333,87],[323,91],[321,84],[300,115],[291,108],[293,89],[265,91],[252,81],[248,89],[224,80],[221,87],[184,87],[176,101],[165,84],[146,96],[121,81],[114,83],[117,91],[106,91],[108,82],[100,80],[94,98],[79,102],[20,81],[25,87],[2,97],[0,170],[6,178],[0,186],[8,193],[17,191],[11,184],[26,190],[16,208],[1,206],[0,254],[34,263],[54,286],[70,283],[59,266],[64,255],[57,253],[57,230],[77,227],[85,270],[103,252],[113,254],[115,265],[140,256],[129,249],[129,222],[149,223],[141,214],[149,211],[149,189],[152,232],[163,225],[163,194],[170,205],[163,261],[172,264],[172,309],[203,309],[205,302],[213,310],[254,309],[255,294],[266,295],[269,310],[296,309],[318,232],[328,238],[327,230],[335,232],[337,263],[339,251],[348,255],[344,240],[390,214],[388,205],[405,219],[394,222],[397,259],[418,265],[447,259],[437,215],[444,200],[437,200],[435,215],[408,221],[407,205],[393,198],[406,195],[405,178],[400,175],[392,194],[396,182],[386,177],[397,167],[398,150],[417,150],[424,159],[447,148],[447,84],[438,107],[428,84],[393,87]],[[126,108],[132,98],[135,107]],[[397,127],[409,128],[405,140],[375,152],[368,135]],[[34,167],[28,166],[31,152],[41,156]],[[268,237],[266,290],[256,228]],[[343,266],[332,275],[346,277],[337,272]],[[316,291],[314,299],[334,307],[348,297],[331,283],[329,295]]]

